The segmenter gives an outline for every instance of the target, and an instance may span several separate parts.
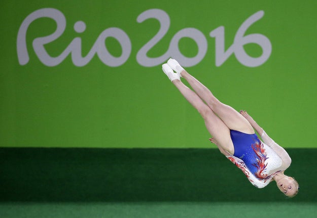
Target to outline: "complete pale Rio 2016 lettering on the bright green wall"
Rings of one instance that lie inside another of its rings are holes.
[[[220,26],[209,33],[211,37],[215,38],[215,53],[216,66],[221,66],[224,62],[234,54],[236,59],[244,66],[257,67],[265,63],[271,55],[272,46],[270,40],[260,34],[253,33],[244,35],[246,30],[260,20],[264,16],[263,11],[259,11],[248,19],[246,19],[235,34],[232,45],[225,51],[225,27]],[[61,52],[57,57],[51,57],[45,49],[45,45],[53,42],[59,38],[66,27],[65,16],[57,9],[44,8],[32,12],[22,22],[17,36],[17,54],[20,65],[25,65],[29,62],[29,55],[26,45],[26,32],[29,25],[39,18],[48,17],[53,19],[56,24],[56,30],[52,34],[44,37],[35,38],[32,42],[33,50],[38,56],[39,60],[46,66],[57,66],[70,54],[72,62],[75,66],[81,67],[87,65],[91,59],[97,54],[102,63],[111,67],[118,67],[123,65],[131,54],[131,41],[129,36],[120,28],[110,27],[103,30],[97,37],[94,45],[86,56],[82,56],[82,38],[75,37],[67,48]],[[200,63],[207,52],[207,39],[201,31],[195,28],[184,28],[178,31],[170,40],[169,46],[164,54],[160,57],[150,58],[147,53],[154,48],[157,43],[166,35],[169,26],[170,18],[168,14],[160,9],[150,9],[141,13],[136,21],[142,23],[147,19],[154,18],[160,23],[160,29],[153,38],[151,38],[140,50],[137,52],[136,61],[142,66],[153,67],[162,64],[169,57],[177,59],[183,66],[190,67]],[[74,30],[77,33],[82,33],[86,30],[86,24],[83,21],[77,21],[74,25]],[[108,37],[115,38],[122,49],[120,57],[114,57],[105,45],[105,39]],[[179,42],[182,38],[187,37],[195,41],[198,52],[194,57],[184,56],[179,49]],[[251,57],[245,51],[243,46],[248,43],[255,43],[262,49],[260,57]],[[166,49],[166,48],[165,48]]]

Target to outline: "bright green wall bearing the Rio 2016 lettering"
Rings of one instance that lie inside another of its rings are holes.
[[[208,148],[202,119],[161,71],[169,56],[221,101],[248,110],[281,146],[316,147],[316,1],[0,6],[2,147]],[[138,22],[142,14],[157,18]],[[56,28],[60,36],[41,47]]]

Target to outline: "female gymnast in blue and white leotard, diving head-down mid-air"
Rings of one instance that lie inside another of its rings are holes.
[[[274,180],[285,195],[293,197],[298,193],[296,180],[284,175],[291,164],[290,156],[246,111],[238,113],[221,103],[176,60],[169,59],[162,65],[162,69],[203,117],[208,132],[213,136],[209,139],[210,142],[216,144],[220,152],[239,167],[254,186],[264,188]],[[181,81],[181,77],[188,81],[194,91]],[[257,137],[255,130],[263,142]]]

